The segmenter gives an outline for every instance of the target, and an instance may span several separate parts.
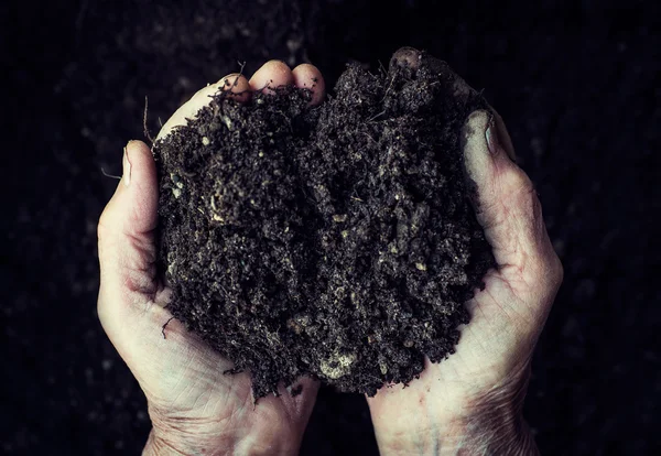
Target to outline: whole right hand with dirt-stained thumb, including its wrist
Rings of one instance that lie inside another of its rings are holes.
[[[509,158],[513,150],[500,117],[476,111],[464,133],[477,219],[498,268],[467,303],[472,319],[456,352],[435,365],[427,359],[407,388],[384,387],[368,398],[381,455],[537,454],[521,405],[562,265],[534,187]]]

